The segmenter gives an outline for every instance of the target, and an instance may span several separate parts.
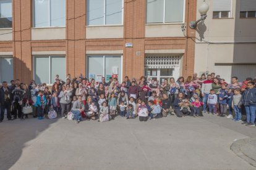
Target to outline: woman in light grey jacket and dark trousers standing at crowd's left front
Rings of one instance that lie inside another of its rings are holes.
[[[70,111],[71,95],[72,92],[67,91],[66,86],[62,86],[62,91],[59,94],[59,98],[61,99],[59,103],[61,103],[61,116],[64,118],[67,118],[66,113]]]

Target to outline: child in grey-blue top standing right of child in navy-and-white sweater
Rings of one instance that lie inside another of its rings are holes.
[[[220,94],[219,94],[219,103],[220,103],[220,116],[224,117],[227,113],[227,91],[226,91],[227,84],[221,84]]]

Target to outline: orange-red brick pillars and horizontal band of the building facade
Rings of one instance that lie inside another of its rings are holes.
[[[189,6],[188,6],[189,2]],[[186,22],[196,19],[197,0],[186,0]],[[189,11],[188,11],[189,8]],[[144,75],[147,49],[185,49],[182,75],[194,71],[195,44],[190,38],[145,38],[146,0],[124,0],[123,39],[85,39],[86,1],[66,0],[66,39],[32,41],[32,1],[13,1],[13,40],[0,41],[0,51],[13,51],[14,78],[28,83],[33,78],[32,51],[66,51],[67,73],[77,76],[86,72],[86,51],[123,50],[123,76]],[[189,37],[195,30],[187,31]],[[133,47],[125,47],[132,42]],[[136,55],[136,52],[140,55]]]

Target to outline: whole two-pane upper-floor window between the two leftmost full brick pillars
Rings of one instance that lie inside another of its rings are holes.
[[[66,25],[66,0],[33,0],[33,26]]]

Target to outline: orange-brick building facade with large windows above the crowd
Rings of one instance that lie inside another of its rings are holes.
[[[192,75],[196,0],[0,0],[0,81]]]

